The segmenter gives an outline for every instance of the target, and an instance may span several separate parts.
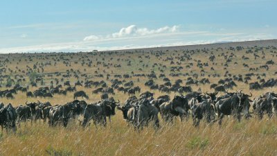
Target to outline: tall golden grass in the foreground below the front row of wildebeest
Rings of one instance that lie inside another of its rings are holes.
[[[0,137],[1,155],[276,155],[277,121],[250,119],[241,123],[226,117],[222,127],[192,121],[161,123],[136,132],[127,127],[121,114],[106,128],[82,129],[72,121],[69,127],[48,128],[35,123]]]

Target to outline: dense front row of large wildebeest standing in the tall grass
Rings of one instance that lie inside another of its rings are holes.
[[[233,115],[238,121],[244,115],[245,119],[249,119],[251,114],[257,114],[259,119],[262,119],[263,114],[268,114],[271,117],[277,108],[277,94],[267,92],[262,96],[250,98],[252,95],[239,92],[226,92],[222,96],[216,96],[215,93],[190,92],[184,95],[175,95],[172,100],[170,96],[163,95],[158,98],[153,97],[153,93],[144,92],[139,98],[130,96],[125,103],[120,105],[119,101],[114,101],[114,98],[105,98],[98,103],[89,103],[86,101],[74,100],[64,105],[51,105],[51,103],[42,103],[40,101],[26,103],[12,107],[11,104],[4,105],[0,103],[0,125],[3,128],[11,129],[15,132],[16,125],[21,122],[30,120],[48,120],[49,126],[55,126],[61,123],[64,127],[69,121],[78,116],[84,116],[80,125],[87,126],[90,120],[93,120],[95,125],[106,125],[106,117],[115,115],[115,109],[122,111],[123,119],[128,124],[134,125],[134,128],[142,128],[148,125],[150,121],[154,123],[155,128],[159,128],[159,116],[166,122],[173,122],[175,116],[179,116],[181,121],[188,120],[192,116],[193,125],[198,126],[200,120],[205,119],[206,123],[222,122],[224,115]],[[253,106],[253,112],[249,112]],[[217,117],[216,117],[217,116]],[[16,124],[17,123],[17,124]]]

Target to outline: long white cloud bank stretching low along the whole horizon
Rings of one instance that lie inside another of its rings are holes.
[[[20,37],[25,38],[28,35],[22,34]],[[78,52],[93,51],[95,49],[98,51],[106,51],[268,39],[274,39],[274,35],[267,33],[226,32],[223,29],[213,32],[184,31],[177,25],[152,29],[130,25],[125,28],[120,28],[115,33],[88,35],[79,39],[78,42],[3,48],[0,49],[0,53]]]

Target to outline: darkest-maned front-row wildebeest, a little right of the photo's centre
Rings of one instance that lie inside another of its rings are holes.
[[[172,101],[160,105],[161,117],[166,121],[172,121],[174,116],[179,116],[181,121],[184,116],[188,116],[188,98],[184,96],[174,96]]]

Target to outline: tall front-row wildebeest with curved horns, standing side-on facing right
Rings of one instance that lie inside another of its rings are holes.
[[[220,101],[217,101],[217,103],[215,103],[215,110],[217,111],[219,124],[221,125],[224,115],[233,114],[237,117],[238,121],[240,121],[241,112],[243,112],[246,116],[249,115],[249,101],[253,102],[249,99],[251,96],[242,94],[242,91],[240,91],[237,94],[233,94],[233,96],[229,98],[223,98]]]

